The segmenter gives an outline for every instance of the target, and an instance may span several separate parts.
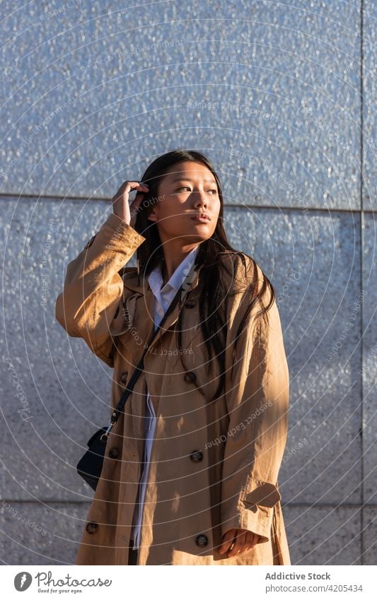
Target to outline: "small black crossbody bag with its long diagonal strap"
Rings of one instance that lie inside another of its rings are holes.
[[[182,283],[182,286],[175,294],[172,302],[168,307],[168,310],[164,314],[161,323],[158,324],[155,331],[153,331],[153,335],[151,336],[151,339],[146,345],[143,355],[139,360],[139,364],[134,370],[132,377],[129,380],[129,384],[124,389],[122,397],[112,413],[112,416],[110,418],[110,424],[108,425],[108,427],[101,427],[100,429],[98,429],[95,433],[93,433],[93,435],[87,442],[88,450],[86,450],[85,454],[83,454],[83,456],[79,460],[76,469],[79,475],[83,478],[83,480],[86,481],[86,483],[88,483],[88,485],[91,486],[93,490],[97,488],[98,480],[102,473],[103,461],[105,459],[106,444],[108,442],[110,429],[115,425],[115,423],[117,423],[118,417],[120,416],[120,413],[123,410],[124,404],[129,394],[131,394],[134,384],[137,382],[141,371],[144,369],[144,356],[146,355],[146,351],[148,351],[148,348],[151,345],[156,334],[158,333],[158,330],[161,329],[163,323],[168,318],[170,312],[173,311],[177,302],[180,301],[180,303],[182,303],[183,299],[185,298],[190,284],[193,281],[196,267],[197,263],[196,261],[194,261],[190,271],[187,273],[187,276],[185,277],[185,280]]]

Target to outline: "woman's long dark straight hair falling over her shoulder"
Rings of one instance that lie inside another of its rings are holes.
[[[156,158],[156,160],[153,160],[153,163],[149,165],[144,172],[144,175],[141,177],[141,182],[148,184],[149,192],[143,194],[144,200],[141,202],[139,210],[137,211],[136,223],[134,225],[134,229],[146,238],[145,242],[137,248],[137,260],[140,273],[144,274],[144,276],[148,276],[157,264],[161,264],[161,261],[163,261],[163,246],[161,244],[160,236],[158,235],[157,224],[156,221],[152,222],[149,220],[148,215],[151,212],[151,208],[153,208],[153,204],[158,201],[158,186],[161,180],[163,180],[163,177],[166,176],[168,170],[170,170],[173,165],[184,161],[199,163],[211,171],[216,180],[221,205],[214,233],[208,240],[204,240],[204,242],[199,244],[196,257],[197,266],[201,266],[198,282],[198,285],[199,283],[202,284],[199,297],[199,314],[202,335],[209,357],[207,364],[209,365],[211,362],[212,351],[214,351],[215,358],[219,361],[221,372],[219,385],[213,398],[210,399],[210,401],[213,401],[220,396],[225,384],[224,353],[226,349],[227,324],[226,319],[224,318],[224,310],[219,310],[219,307],[224,305],[222,300],[226,295],[232,292],[232,290],[224,289],[224,284],[222,283],[221,273],[224,269],[232,276],[231,271],[228,271],[226,266],[226,262],[228,261],[225,258],[227,256],[229,257],[229,255],[233,257],[238,255],[245,267],[245,273],[246,269],[250,267],[250,264],[247,265],[245,263],[245,257],[247,257],[249,262],[251,261],[253,266],[253,276],[251,278],[250,275],[247,278],[245,277],[248,284],[245,289],[245,295],[247,298],[250,298],[250,302],[242,322],[238,327],[236,340],[239,339],[239,336],[246,325],[250,311],[256,302],[260,302],[262,308],[255,314],[255,319],[264,318],[267,321],[267,311],[274,301],[275,293],[272,283],[263,272],[262,286],[259,291],[256,290],[255,281],[257,281],[257,266],[255,260],[253,257],[249,257],[248,254],[237,251],[231,247],[228,242],[224,230],[224,199],[221,192],[221,184],[211,161],[201,152],[180,148],[163,154]],[[234,265],[231,261],[229,261],[229,265],[234,271]],[[250,273],[250,271],[248,272]],[[234,280],[232,288],[233,293],[237,293]],[[267,288],[269,288],[270,299],[267,305],[264,305],[262,297],[265,296]],[[178,329],[178,348],[181,348],[182,345],[181,317],[182,311],[180,312],[180,317],[176,326],[176,330]],[[235,348],[233,348],[233,355],[234,353]],[[179,352],[179,355],[182,360],[183,353],[181,351]]]

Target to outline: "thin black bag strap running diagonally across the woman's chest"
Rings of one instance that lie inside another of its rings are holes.
[[[139,364],[137,365],[136,369],[132,373],[132,377],[129,380],[129,384],[127,385],[126,389],[124,389],[124,392],[122,394],[122,397],[120,398],[120,401],[118,402],[117,406],[115,406],[114,411],[112,412],[112,416],[110,418],[110,424],[108,425],[108,428],[105,431],[105,433],[103,433],[101,435],[101,437],[100,437],[100,440],[102,442],[104,442],[105,440],[107,440],[108,435],[110,433],[110,429],[115,425],[115,423],[117,423],[117,420],[118,420],[118,418],[120,416],[120,413],[122,412],[123,406],[124,406],[124,404],[125,404],[128,396],[129,396],[129,394],[131,394],[132,389],[134,387],[134,384],[137,382],[137,380],[139,378],[139,375],[141,374],[142,370],[144,369],[144,356],[146,355],[146,352],[148,351],[148,348],[151,345],[153,339],[155,339],[156,335],[158,334],[158,331],[161,329],[161,327],[163,326],[163,324],[166,322],[166,319],[168,318],[169,314],[171,312],[173,312],[173,310],[174,310],[175,306],[177,305],[177,303],[178,302],[182,303],[183,299],[185,298],[185,295],[187,294],[187,292],[188,292],[188,290],[190,288],[190,284],[194,280],[195,269],[196,268],[197,268],[197,261],[195,259],[195,261],[192,263],[190,271],[187,273],[187,276],[185,277],[185,279],[184,279],[184,281],[182,283],[182,286],[180,286],[180,289],[175,294],[173,300],[170,302],[170,305],[169,305],[168,309],[166,310],[166,313],[163,315],[163,319],[157,325],[156,329],[153,331],[151,339],[146,344],[146,348],[144,349],[144,352],[141,355],[141,359],[139,360]]]

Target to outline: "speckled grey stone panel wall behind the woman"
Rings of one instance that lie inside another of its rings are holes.
[[[55,300],[120,183],[185,147],[213,161],[228,237],[277,292],[292,564],[375,563],[376,2],[0,11],[2,562],[74,563],[92,497],[76,463],[112,371]]]

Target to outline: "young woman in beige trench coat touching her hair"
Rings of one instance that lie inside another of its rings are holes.
[[[110,430],[76,564],[289,565],[282,327],[272,284],[226,238],[219,177],[202,153],[171,151],[112,209],[56,303],[68,334],[114,369],[111,409],[187,292]],[[138,267],[124,266],[135,251]]]

